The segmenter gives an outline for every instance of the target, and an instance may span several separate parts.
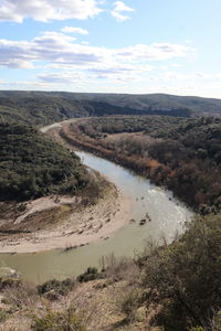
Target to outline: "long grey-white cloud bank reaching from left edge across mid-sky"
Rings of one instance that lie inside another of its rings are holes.
[[[149,62],[183,57],[191,49],[179,44],[138,44],[124,49],[107,49],[76,43],[74,36],[48,31],[32,41],[0,40],[0,66],[30,68],[34,64],[59,67],[95,66],[96,70],[119,67],[128,71],[149,70]],[[123,70],[122,70],[123,71]]]

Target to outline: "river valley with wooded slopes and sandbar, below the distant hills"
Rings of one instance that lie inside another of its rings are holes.
[[[220,117],[96,107],[53,124],[31,110],[30,122],[1,118],[1,325],[46,330],[69,316],[77,331],[210,330],[220,303]]]

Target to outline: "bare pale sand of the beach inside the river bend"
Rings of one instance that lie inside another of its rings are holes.
[[[32,202],[25,215],[53,206],[76,203],[67,197],[56,202],[52,197],[41,197]],[[0,253],[33,253],[55,248],[83,246],[97,239],[107,239],[110,234],[129,222],[131,200],[113,185],[109,193],[95,205],[73,212],[61,224],[46,229],[25,234],[23,237],[8,236],[1,238]],[[15,223],[22,223],[24,216]]]

